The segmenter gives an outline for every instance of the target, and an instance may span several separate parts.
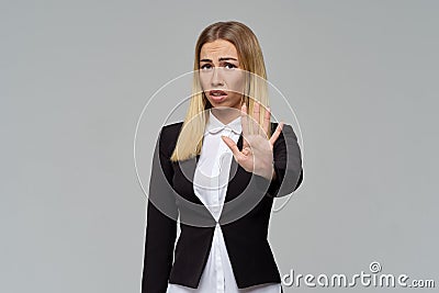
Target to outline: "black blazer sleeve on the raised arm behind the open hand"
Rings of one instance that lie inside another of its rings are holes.
[[[273,124],[272,131],[278,124]],[[259,189],[267,191],[267,196],[280,198],[294,192],[303,181],[302,155],[297,136],[293,127],[284,124],[273,146],[275,179],[268,180],[254,174]]]

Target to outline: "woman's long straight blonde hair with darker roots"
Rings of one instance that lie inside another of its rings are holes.
[[[190,105],[179,134],[176,148],[171,155],[171,161],[190,159],[201,153],[204,129],[206,125],[206,111],[212,108],[205,97],[200,79],[200,53],[205,43],[216,40],[230,42],[238,53],[241,69],[246,70],[246,89],[244,101],[247,113],[252,113],[255,101],[259,101],[259,121],[263,121],[268,104],[267,72],[262,50],[254,32],[245,24],[237,21],[216,22],[205,27],[200,34],[195,45],[195,58],[193,63],[192,95]],[[268,137],[271,136],[269,127]]]

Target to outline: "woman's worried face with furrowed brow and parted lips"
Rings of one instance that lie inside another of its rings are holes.
[[[200,81],[213,108],[240,110],[245,75],[234,44],[225,40],[205,43],[200,53]]]

